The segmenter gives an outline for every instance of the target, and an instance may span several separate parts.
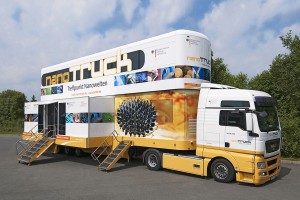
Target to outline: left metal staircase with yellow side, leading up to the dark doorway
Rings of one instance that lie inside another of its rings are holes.
[[[19,163],[31,165],[33,160],[40,157],[55,142],[54,138],[48,137],[52,130],[47,131],[47,129],[44,129],[41,132],[33,132],[34,128],[27,133],[28,138],[16,142]]]

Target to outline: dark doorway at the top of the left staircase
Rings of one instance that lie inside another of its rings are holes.
[[[54,136],[58,132],[58,103],[41,103],[38,110],[39,132],[48,133],[48,136]]]

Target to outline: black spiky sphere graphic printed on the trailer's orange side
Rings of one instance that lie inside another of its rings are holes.
[[[125,135],[145,137],[156,127],[156,111],[150,101],[130,99],[124,101],[117,111],[117,121]]]

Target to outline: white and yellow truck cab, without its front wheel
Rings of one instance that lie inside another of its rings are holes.
[[[197,127],[197,155],[219,160],[209,162],[215,179],[227,182],[231,166],[241,182],[262,184],[279,174],[281,131],[269,94],[203,83]]]

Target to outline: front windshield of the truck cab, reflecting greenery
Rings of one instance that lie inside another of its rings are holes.
[[[260,131],[279,130],[277,111],[272,97],[256,97],[255,108]]]

